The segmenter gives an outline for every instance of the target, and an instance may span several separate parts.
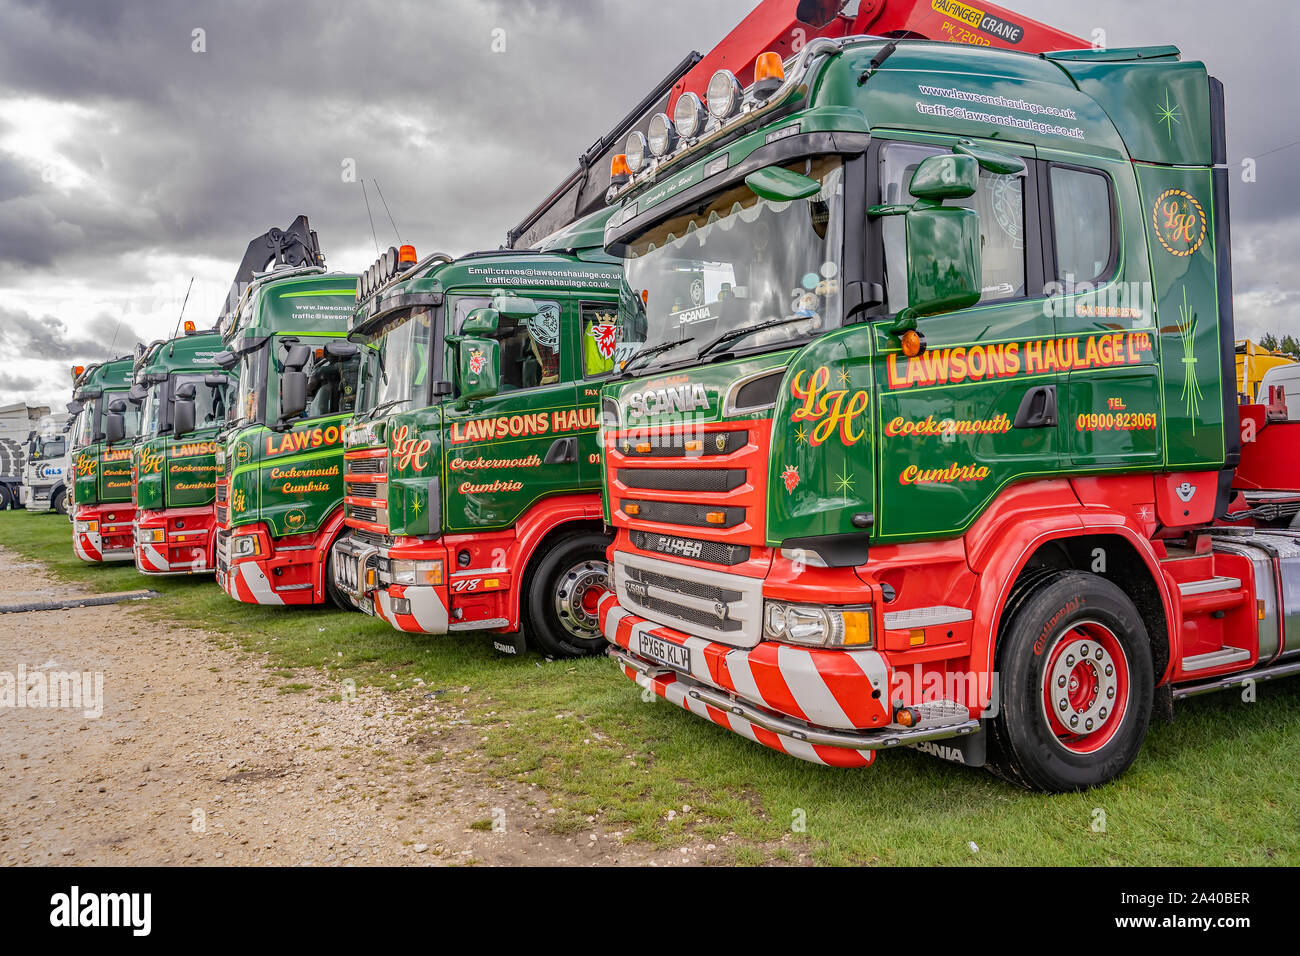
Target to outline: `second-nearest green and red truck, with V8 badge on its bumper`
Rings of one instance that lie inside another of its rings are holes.
[[[488,631],[507,653],[603,649],[601,384],[621,286],[606,213],[538,248],[390,250],[363,276],[368,347],[344,433],[338,587],[412,633]]]

